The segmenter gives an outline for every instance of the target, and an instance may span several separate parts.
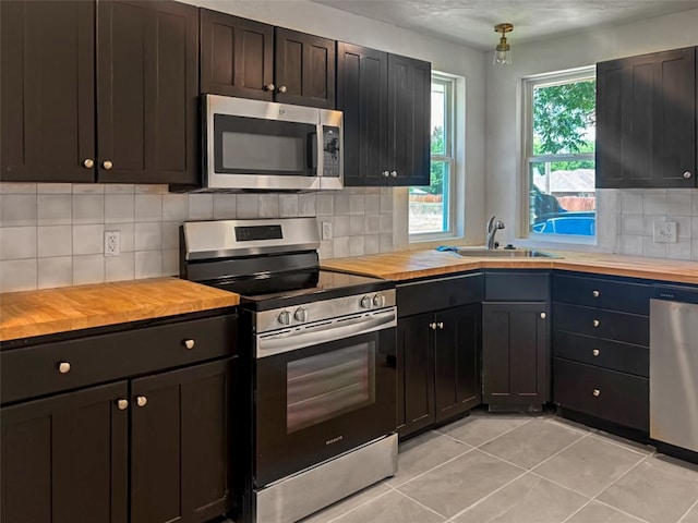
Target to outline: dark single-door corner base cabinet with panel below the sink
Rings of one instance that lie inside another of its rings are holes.
[[[550,399],[550,273],[486,272],[482,402],[540,411]]]

